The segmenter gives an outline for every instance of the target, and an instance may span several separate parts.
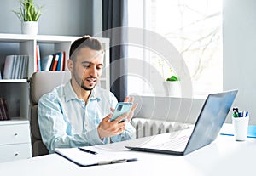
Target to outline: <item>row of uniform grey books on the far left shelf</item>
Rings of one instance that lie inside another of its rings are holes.
[[[5,58],[3,79],[26,79],[28,55],[8,55]]]

